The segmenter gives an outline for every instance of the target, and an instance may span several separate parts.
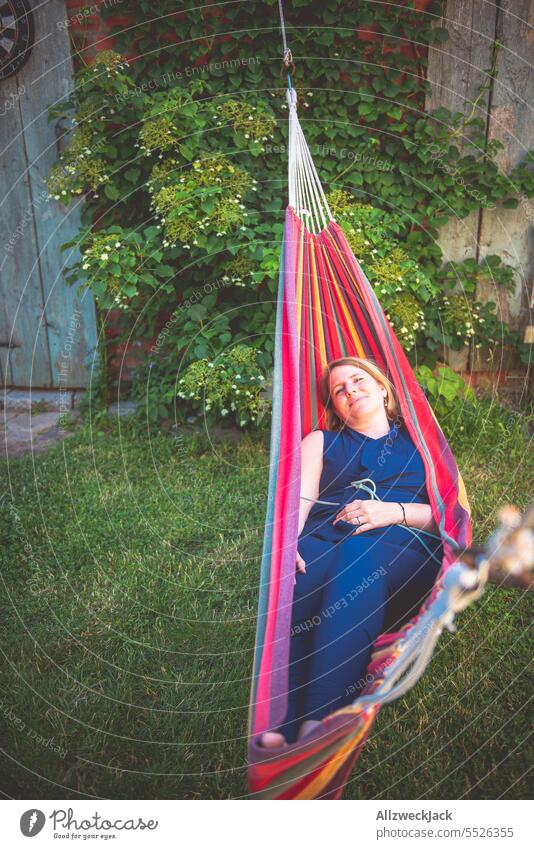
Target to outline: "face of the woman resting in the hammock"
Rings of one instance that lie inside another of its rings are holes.
[[[342,421],[350,425],[383,419],[386,390],[364,369],[336,366],[330,373],[329,385],[334,410]]]

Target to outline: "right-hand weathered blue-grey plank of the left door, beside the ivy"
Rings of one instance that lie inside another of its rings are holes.
[[[63,100],[72,88],[72,59],[68,32],[61,24],[67,13],[64,0],[36,5],[37,43],[23,69],[26,92],[20,99],[28,151],[28,175],[34,196],[45,191],[46,176],[57,158],[56,126],[47,107]],[[58,25],[59,24],[59,25]],[[61,245],[80,226],[79,204],[68,209],[54,200],[43,202],[35,215],[39,263],[45,299],[52,385],[65,388],[88,382],[88,352],[96,344],[94,299],[89,292],[76,296],[63,280],[64,265],[74,259]]]

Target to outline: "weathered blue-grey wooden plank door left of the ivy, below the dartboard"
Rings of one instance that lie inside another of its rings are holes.
[[[72,88],[64,0],[33,0],[35,43],[18,73],[0,80],[0,378],[10,387],[84,387],[96,345],[92,295],[63,279],[81,201],[48,199],[59,131],[48,106]]]

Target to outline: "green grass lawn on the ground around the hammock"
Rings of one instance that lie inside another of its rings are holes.
[[[500,504],[527,503],[532,454],[513,416],[455,433],[483,539]],[[265,438],[115,425],[4,465],[5,794],[246,794],[267,464]],[[495,587],[461,614],[381,711],[345,798],[528,797],[531,620],[527,593]]]

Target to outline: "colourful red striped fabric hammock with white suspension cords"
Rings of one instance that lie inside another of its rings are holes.
[[[412,368],[328,203],[289,88],[289,205],[276,316],[273,419],[267,515],[249,711],[252,798],[339,798],[382,704],[413,685],[443,627],[472,600],[473,582],[455,551],[471,542],[469,505],[447,441]],[[406,428],[425,467],[443,540],[435,586],[417,616],[373,645],[369,683],[351,705],[326,717],[301,741],[265,749],[260,735],[287,710],[291,605],[300,501],[300,443],[325,429],[318,380],[342,356],[372,358],[393,383]]]

